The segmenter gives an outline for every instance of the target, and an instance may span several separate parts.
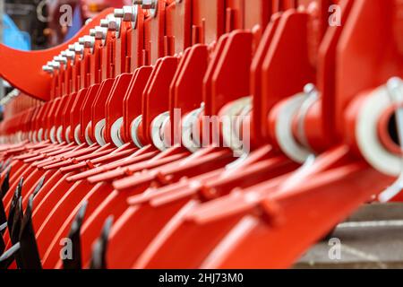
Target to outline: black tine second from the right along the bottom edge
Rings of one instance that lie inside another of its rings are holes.
[[[84,202],[72,223],[68,238],[72,242],[72,257],[63,258],[63,267],[68,270],[80,270],[81,264],[81,226],[87,211],[88,202]]]

